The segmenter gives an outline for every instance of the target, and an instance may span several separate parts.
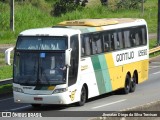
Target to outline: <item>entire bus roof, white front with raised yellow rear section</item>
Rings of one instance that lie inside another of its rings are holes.
[[[79,33],[97,32],[130,26],[146,25],[144,19],[137,18],[103,18],[80,19],[60,22],[52,28],[36,28],[25,30],[22,36],[71,36]]]

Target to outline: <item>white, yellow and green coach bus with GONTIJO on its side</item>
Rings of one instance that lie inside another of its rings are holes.
[[[25,30],[14,49],[14,101],[83,106],[115,90],[134,92],[148,79],[148,51],[144,19],[80,19]]]

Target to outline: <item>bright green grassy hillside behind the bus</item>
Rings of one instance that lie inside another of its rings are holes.
[[[101,6],[99,0],[90,0],[85,8],[63,14],[61,17],[51,16],[51,0],[36,1],[38,0],[15,2],[15,32],[9,30],[9,4],[0,2],[0,44],[15,44],[19,32],[25,29],[48,27],[64,20],[81,18],[144,18],[148,23],[149,32],[157,31],[158,0],[147,0],[143,16],[140,9],[115,9],[115,0],[110,0],[108,7]]]

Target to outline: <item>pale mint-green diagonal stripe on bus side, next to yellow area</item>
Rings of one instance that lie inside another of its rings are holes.
[[[111,81],[110,81],[110,75],[109,75],[105,55],[99,55],[98,58],[99,58],[99,62],[100,62],[100,65],[101,65],[103,78],[104,78],[104,81],[105,81],[104,83],[105,83],[106,92],[111,92],[112,91],[112,85],[111,85]]]

